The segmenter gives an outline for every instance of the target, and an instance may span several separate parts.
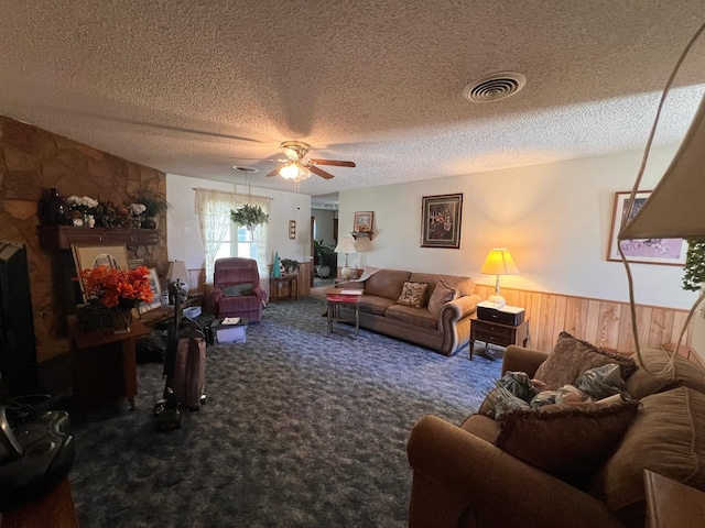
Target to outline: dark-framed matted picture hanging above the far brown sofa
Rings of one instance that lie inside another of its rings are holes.
[[[421,211],[422,248],[460,248],[463,194],[424,196]]]

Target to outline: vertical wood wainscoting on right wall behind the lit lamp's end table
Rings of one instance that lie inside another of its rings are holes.
[[[475,293],[487,299],[494,286],[475,285]],[[630,354],[634,351],[629,302],[502,288],[510,306],[524,308],[530,318],[530,348],[551,352],[562,330],[596,346]],[[637,305],[637,329],[642,349],[675,346],[687,310]],[[682,355],[701,363],[691,349],[692,331],[683,339]]]

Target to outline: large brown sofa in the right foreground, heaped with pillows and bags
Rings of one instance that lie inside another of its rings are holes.
[[[513,371],[533,376],[546,358],[542,352],[509,346],[502,374]],[[595,421],[587,430],[561,418],[539,421],[546,429],[538,432],[524,430],[520,443],[531,443],[544,457],[542,463],[531,464],[522,461],[527,458],[521,447],[512,447],[518,454],[507,452],[507,446],[498,447],[502,436],[507,437],[500,418],[496,421],[478,413],[458,427],[434,416],[423,417],[408,442],[413,469],[409,526],[643,527],[644,469],[705,490],[705,373],[676,358],[674,369],[658,374],[668,363],[661,350],[643,351],[642,359],[643,364],[636,360],[640,366],[626,381],[626,391],[639,400],[627,403],[634,404],[634,414],[604,458],[575,455],[571,460],[558,454],[564,446],[572,448],[586,438],[595,441],[588,438],[593,435],[603,436],[606,428],[595,416],[588,419]],[[657,374],[649,374],[643,365]],[[566,482],[571,479],[565,474],[547,473],[539,468],[543,463],[596,464],[596,469],[578,484]]]

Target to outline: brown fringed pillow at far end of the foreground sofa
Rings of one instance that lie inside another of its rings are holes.
[[[585,371],[607,363],[619,365],[622,380],[627,380],[637,370],[637,364],[630,358],[599,350],[568,332],[561,332],[553,352],[539,365],[533,377],[556,389],[563,385],[575,385],[575,381]]]

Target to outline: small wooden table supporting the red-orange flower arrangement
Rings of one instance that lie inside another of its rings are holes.
[[[75,316],[68,317],[72,346],[74,399],[78,407],[95,408],[120,396],[134,408],[137,360],[134,341],[150,333],[139,320],[130,322],[130,332],[84,331]]]

